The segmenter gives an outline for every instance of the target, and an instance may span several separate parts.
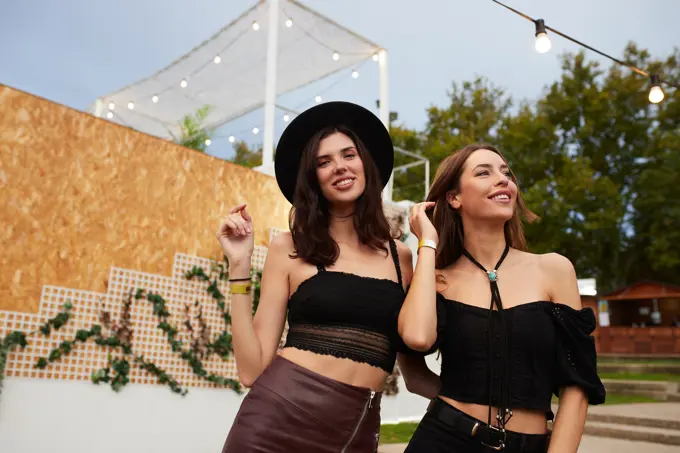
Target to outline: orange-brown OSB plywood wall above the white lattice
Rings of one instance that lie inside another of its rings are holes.
[[[257,244],[287,229],[273,178],[0,85],[0,310],[37,313],[43,285],[106,293],[112,268],[217,257],[242,202]]]

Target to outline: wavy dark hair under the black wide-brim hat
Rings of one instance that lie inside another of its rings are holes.
[[[380,173],[371,154],[348,127],[337,125],[321,129],[307,142],[302,153],[288,223],[295,246],[292,257],[325,267],[335,263],[340,248],[328,229],[328,200],[322,195],[316,176],[316,156],[321,141],[335,133],[344,134],[354,142],[364,165],[366,187],[356,201],[353,215],[354,229],[359,241],[387,254],[385,243],[392,238],[390,224],[383,211]]]

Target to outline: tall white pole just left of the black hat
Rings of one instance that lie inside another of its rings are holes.
[[[279,0],[268,0],[269,20],[267,35],[267,78],[264,99],[264,142],[262,145],[262,167],[273,172],[274,123],[276,115],[276,59],[279,39]]]

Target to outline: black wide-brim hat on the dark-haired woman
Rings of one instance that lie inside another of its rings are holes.
[[[340,125],[349,128],[364,144],[378,167],[382,186],[389,182],[394,166],[394,145],[382,121],[360,105],[344,101],[326,102],[295,117],[283,131],[276,147],[276,182],[291,204],[305,146],[321,129]]]

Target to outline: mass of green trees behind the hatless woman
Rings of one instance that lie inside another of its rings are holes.
[[[630,44],[622,59],[680,82],[678,51],[657,61]],[[566,255],[601,292],[647,278],[680,283],[680,95],[665,91],[651,105],[644,77],[566,54],[560,79],[537,102],[513,110],[502,89],[478,78],[454,83],[448,105],[428,109],[422,133],[391,132],[395,145],[421,151],[433,173],[469,143],[497,145],[541,217],[526,226],[532,250]],[[417,171],[395,175],[396,199],[422,198],[409,187],[422,181]]]

